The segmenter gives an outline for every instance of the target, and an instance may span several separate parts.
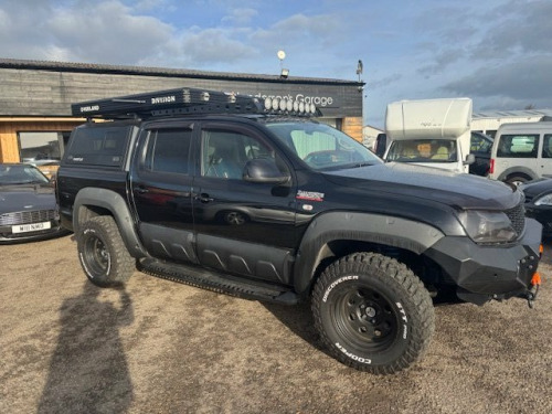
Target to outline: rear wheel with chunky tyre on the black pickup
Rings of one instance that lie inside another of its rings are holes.
[[[136,269],[117,223],[110,215],[85,222],[77,237],[78,259],[88,279],[100,287],[121,285]]]

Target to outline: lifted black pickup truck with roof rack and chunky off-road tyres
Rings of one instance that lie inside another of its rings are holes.
[[[138,267],[310,300],[329,352],[376,374],[421,358],[435,297],[535,297],[541,225],[507,184],[384,164],[304,103],[183,88],[72,109],[89,121],[72,134],[57,201],[98,286]]]

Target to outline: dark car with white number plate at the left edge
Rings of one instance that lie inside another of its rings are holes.
[[[0,163],[0,243],[67,233],[60,225],[54,184],[36,167]]]

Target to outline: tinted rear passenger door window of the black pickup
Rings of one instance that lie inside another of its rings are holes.
[[[156,129],[149,132],[144,168],[152,172],[190,172],[191,129]]]

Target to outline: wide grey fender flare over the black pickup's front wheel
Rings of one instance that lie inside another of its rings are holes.
[[[444,236],[432,225],[389,215],[353,212],[321,214],[302,236],[295,264],[295,289],[304,294],[309,288],[317,266],[325,258],[326,246],[332,241],[372,242],[422,254]]]

